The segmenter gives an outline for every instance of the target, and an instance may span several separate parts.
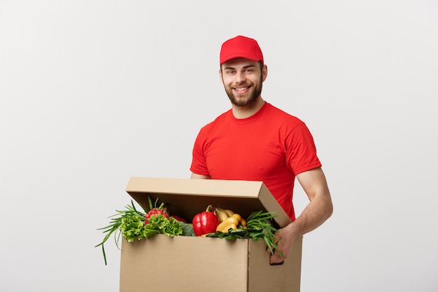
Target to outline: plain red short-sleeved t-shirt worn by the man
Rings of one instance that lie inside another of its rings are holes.
[[[234,118],[230,109],[202,127],[190,171],[211,179],[263,181],[293,221],[295,176],[320,166],[302,120],[265,102],[249,118]]]

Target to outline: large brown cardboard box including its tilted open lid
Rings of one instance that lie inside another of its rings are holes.
[[[148,195],[170,204],[170,213],[189,220],[209,204],[246,218],[253,211],[275,211],[282,227],[290,218],[260,181],[157,179],[134,177],[127,193],[148,209]],[[122,240],[120,292],[232,291],[299,292],[302,238],[283,265],[269,265],[264,241],[210,237]]]

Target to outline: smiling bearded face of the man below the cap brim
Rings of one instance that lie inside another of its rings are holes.
[[[222,84],[232,104],[248,106],[260,97],[267,76],[266,65],[260,69],[259,62],[235,58],[222,63],[220,68]]]

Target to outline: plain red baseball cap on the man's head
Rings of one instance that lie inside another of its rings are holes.
[[[220,48],[220,64],[236,57],[243,57],[253,61],[263,61],[262,50],[255,39],[246,36],[236,36],[222,43]]]

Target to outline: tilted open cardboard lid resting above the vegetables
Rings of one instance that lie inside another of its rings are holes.
[[[153,202],[158,199],[158,204],[169,204],[171,215],[188,221],[212,204],[232,209],[243,218],[253,211],[273,211],[278,215],[275,221],[280,227],[291,222],[262,181],[132,177],[126,191],[147,210],[150,195]]]

